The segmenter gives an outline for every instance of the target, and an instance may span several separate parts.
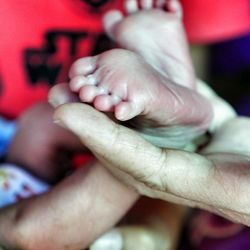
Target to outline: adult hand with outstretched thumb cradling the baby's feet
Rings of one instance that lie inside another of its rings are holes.
[[[80,103],[60,106],[54,119],[139,193],[250,225],[250,143],[245,139],[250,136],[249,119],[235,118],[222,125],[204,155],[157,148]]]

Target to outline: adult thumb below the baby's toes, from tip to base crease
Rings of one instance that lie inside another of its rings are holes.
[[[156,173],[164,161],[162,150],[133,130],[82,103],[58,107],[54,119],[77,135],[106,167],[118,168],[141,182],[149,181],[150,186],[161,183]]]

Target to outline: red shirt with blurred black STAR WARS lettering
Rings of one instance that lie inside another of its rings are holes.
[[[16,117],[67,81],[71,63],[109,48],[101,18],[122,1],[1,2],[0,114]]]

